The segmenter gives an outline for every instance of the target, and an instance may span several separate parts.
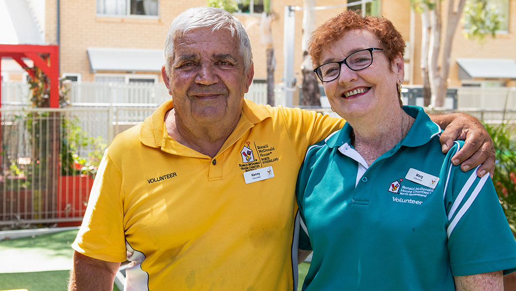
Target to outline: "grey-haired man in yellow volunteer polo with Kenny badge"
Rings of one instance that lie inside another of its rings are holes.
[[[295,290],[298,169],[344,121],[244,100],[251,46],[222,9],[178,16],[165,57],[172,100],[106,150],[69,289],[110,289],[128,260],[126,290]]]

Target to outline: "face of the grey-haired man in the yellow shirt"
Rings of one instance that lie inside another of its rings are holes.
[[[238,48],[236,36],[227,29],[193,29],[174,40],[171,72],[164,80],[176,122],[236,125],[254,74],[252,66],[245,73]]]

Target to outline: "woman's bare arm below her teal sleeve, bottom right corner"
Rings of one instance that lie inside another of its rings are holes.
[[[457,291],[498,291],[504,290],[502,271],[471,276],[454,277]]]

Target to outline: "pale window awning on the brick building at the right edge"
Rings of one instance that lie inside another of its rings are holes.
[[[512,59],[457,59],[459,79],[516,79],[516,60]]]

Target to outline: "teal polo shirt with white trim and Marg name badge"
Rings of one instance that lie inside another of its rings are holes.
[[[303,290],[455,290],[453,276],[516,270],[516,242],[491,178],[441,151],[420,107],[405,139],[367,166],[346,125],[309,147],[297,200],[312,250]]]

